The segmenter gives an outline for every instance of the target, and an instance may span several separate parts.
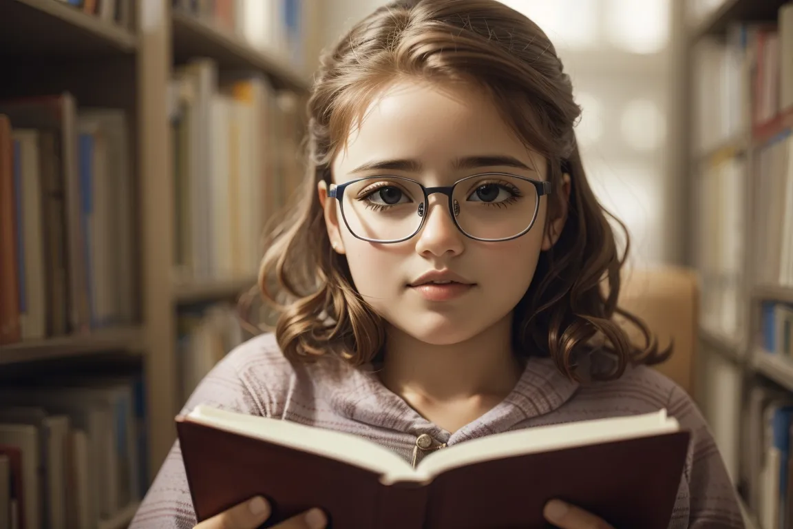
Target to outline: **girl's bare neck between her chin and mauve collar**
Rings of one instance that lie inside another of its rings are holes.
[[[485,332],[454,345],[424,343],[389,328],[381,380],[414,407],[501,401],[523,372],[511,347],[511,321],[509,314]]]

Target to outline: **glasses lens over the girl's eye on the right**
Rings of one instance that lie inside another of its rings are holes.
[[[479,174],[454,188],[454,213],[463,232],[477,239],[508,239],[534,222],[538,203],[532,182],[504,174]]]

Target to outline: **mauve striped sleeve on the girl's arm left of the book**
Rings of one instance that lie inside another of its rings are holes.
[[[182,412],[209,404],[251,415],[264,409],[239,376],[235,351],[223,358],[197,386]],[[129,529],[192,529],[196,525],[178,440],[171,447]]]

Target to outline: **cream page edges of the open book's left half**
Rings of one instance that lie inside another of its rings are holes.
[[[203,405],[193,408],[186,419],[282,447],[335,459],[375,473],[396,473],[408,477],[415,474],[408,462],[399,455],[358,435]]]

